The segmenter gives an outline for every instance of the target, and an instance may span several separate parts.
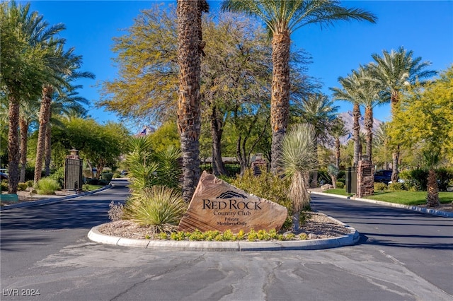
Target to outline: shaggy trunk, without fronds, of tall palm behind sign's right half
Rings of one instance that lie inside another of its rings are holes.
[[[273,77],[270,97],[270,125],[272,126],[272,160],[270,170],[277,174],[282,157],[282,139],[289,116],[289,32],[275,33],[272,39]]]

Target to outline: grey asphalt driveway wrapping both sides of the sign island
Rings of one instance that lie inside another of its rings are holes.
[[[174,252],[86,237],[125,182],[1,211],[1,300],[453,300],[453,218],[314,196],[359,244],[285,252]],[[37,291],[39,290],[39,295]]]

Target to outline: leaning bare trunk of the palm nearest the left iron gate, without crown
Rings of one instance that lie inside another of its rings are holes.
[[[35,162],[35,184],[41,179],[42,160],[45,153],[45,134],[47,131],[47,124],[50,119],[50,103],[52,102],[53,88],[45,86],[42,88],[42,100],[40,107],[40,128],[38,131],[38,146],[36,146],[36,162]]]

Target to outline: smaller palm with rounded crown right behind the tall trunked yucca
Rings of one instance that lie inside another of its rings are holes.
[[[333,120],[336,118],[338,106],[333,105],[333,102],[326,95],[316,93],[304,98],[299,110],[302,121],[314,127],[314,148],[317,164],[318,144],[326,143],[331,138],[328,133],[331,130]],[[311,187],[317,187],[317,185],[318,172],[314,170]]]

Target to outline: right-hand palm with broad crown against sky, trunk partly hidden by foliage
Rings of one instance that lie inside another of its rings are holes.
[[[396,51],[384,50],[382,56],[372,54],[372,58],[374,62],[370,63],[370,66],[374,67],[374,76],[379,78],[385,87],[386,102],[391,103],[392,114],[394,114],[401,93],[406,90],[407,85],[412,85],[417,81],[423,82],[437,74],[436,71],[425,70],[431,64],[429,61],[422,61],[421,57],[413,57],[413,51],[407,51],[402,46]],[[396,146],[392,157],[391,181],[396,183],[398,181],[399,146]]]

